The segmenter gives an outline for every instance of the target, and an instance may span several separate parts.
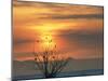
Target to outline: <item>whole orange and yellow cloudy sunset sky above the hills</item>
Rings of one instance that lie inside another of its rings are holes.
[[[104,8],[13,1],[13,58],[32,59],[48,40],[71,58],[103,57]],[[46,40],[48,39],[48,40]]]

